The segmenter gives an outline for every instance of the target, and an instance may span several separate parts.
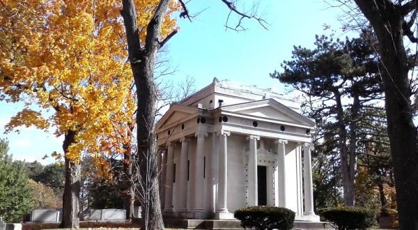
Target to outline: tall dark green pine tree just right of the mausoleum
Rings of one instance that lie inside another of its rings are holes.
[[[323,152],[339,153],[344,204],[355,204],[355,175],[359,121],[367,119],[366,107],[378,108],[382,98],[379,62],[372,47],[373,36],[364,31],[360,38],[345,41],[316,37],[316,48],[295,47],[293,60],[284,61],[283,72],[271,76],[291,84],[309,97],[308,116],[323,132]]]

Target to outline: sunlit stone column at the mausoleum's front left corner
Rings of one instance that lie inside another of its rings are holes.
[[[218,190],[217,190],[217,210],[215,213],[216,219],[231,219],[232,213],[228,212],[227,194],[228,194],[228,148],[227,137],[231,135],[230,132],[222,131],[219,135],[219,174],[218,174]]]

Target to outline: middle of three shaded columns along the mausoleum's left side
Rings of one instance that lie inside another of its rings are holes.
[[[181,141],[180,153],[180,178],[178,178],[177,194],[178,194],[178,211],[180,213],[187,212],[187,151],[189,148],[189,139],[183,137]]]

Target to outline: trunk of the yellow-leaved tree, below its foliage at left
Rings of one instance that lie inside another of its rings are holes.
[[[68,153],[70,144],[75,143],[77,133],[68,130],[63,142],[63,151]],[[80,162],[72,162],[67,157],[65,160],[65,185],[63,192],[63,218],[61,228],[79,228],[79,194],[81,180]]]

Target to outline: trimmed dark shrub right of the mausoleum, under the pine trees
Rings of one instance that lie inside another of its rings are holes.
[[[319,213],[338,230],[365,229],[373,226],[375,222],[373,211],[362,207],[323,208]]]

